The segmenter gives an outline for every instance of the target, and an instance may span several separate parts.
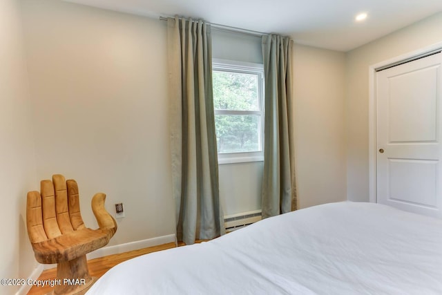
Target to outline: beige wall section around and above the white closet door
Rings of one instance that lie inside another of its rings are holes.
[[[369,66],[442,41],[442,13],[398,30],[346,56],[347,198],[369,201]]]

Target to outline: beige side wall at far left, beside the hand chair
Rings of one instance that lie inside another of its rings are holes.
[[[35,155],[19,1],[0,1],[0,278],[27,278],[36,263],[26,232]],[[0,294],[19,287],[0,286]]]

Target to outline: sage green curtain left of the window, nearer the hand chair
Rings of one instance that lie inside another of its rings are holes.
[[[213,111],[211,27],[168,19],[173,197],[177,239],[224,234]]]

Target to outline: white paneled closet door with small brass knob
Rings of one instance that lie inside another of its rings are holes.
[[[439,218],[441,58],[437,53],[376,74],[377,200]]]

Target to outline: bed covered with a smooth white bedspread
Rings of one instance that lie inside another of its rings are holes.
[[[87,294],[442,294],[442,220],[323,204],[128,260]]]

